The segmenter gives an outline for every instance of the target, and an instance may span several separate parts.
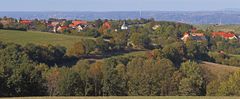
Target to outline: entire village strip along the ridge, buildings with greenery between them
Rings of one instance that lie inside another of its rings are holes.
[[[8,26],[11,24],[21,24],[23,25],[26,30],[34,30],[36,28],[36,24],[33,24],[36,20],[24,20],[24,19],[11,19],[11,18],[3,18],[0,19],[0,24],[4,26]],[[101,21],[99,26],[99,23],[96,22],[88,22],[86,20],[67,20],[67,19],[55,19],[51,18],[49,20],[37,20],[40,24],[42,24],[46,29],[44,32],[51,32],[51,33],[63,33],[63,32],[70,32],[70,31],[76,31],[76,32],[81,32],[81,31],[86,31],[91,28],[99,28],[99,27],[104,27],[107,30],[114,30],[115,32],[119,30],[129,30],[133,26],[144,26],[145,23],[137,23],[137,24],[127,24],[126,21],[122,20],[117,26],[112,27],[111,22],[108,20]],[[98,24],[98,26],[96,25]],[[152,26],[153,30],[158,29],[161,27],[159,24],[156,24]],[[224,39],[240,39],[240,34],[235,34],[232,31],[214,31],[211,32],[211,37],[216,38],[216,37],[222,37]],[[187,40],[194,40],[197,42],[201,41],[206,41],[208,40],[206,38],[206,33],[199,32],[197,28],[193,28],[189,31],[186,31],[183,33],[181,40],[186,42]]]

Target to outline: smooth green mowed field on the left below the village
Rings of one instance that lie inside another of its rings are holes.
[[[56,33],[36,32],[36,31],[14,31],[0,30],[0,41],[25,45],[28,43],[38,45],[61,45],[66,48],[71,47],[80,39],[94,39],[80,36],[70,36]]]

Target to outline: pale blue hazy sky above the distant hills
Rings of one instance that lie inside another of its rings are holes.
[[[240,0],[1,0],[0,11],[206,11],[240,8]]]

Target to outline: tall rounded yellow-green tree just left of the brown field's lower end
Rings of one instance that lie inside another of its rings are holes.
[[[183,78],[180,80],[179,93],[181,95],[205,95],[204,78],[200,66],[191,61],[183,63],[180,67]]]

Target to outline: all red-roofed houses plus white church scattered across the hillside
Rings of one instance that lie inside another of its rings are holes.
[[[14,23],[15,20],[0,20],[0,23],[2,23],[3,25],[7,25],[7,24],[11,24]],[[66,22],[70,22],[67,23]],[[32,20],[18,20],[17,21],[20,24],[24,24],[24,25],[31,25],[33,23]],[[77,30],[78,32],[84,30],[85,28],[89,27],[89,28],[94,28],[96,27],[95,24],[90,24],[88,23],[88,21],[84,21],[84,20],[66,20],[66,19],[49,19],[48,21],[46,20],[40,20],[41,23],[44,23],[48,29],[49,32],[62,32],[64,30],[69,30],[69,29],[73,29],[73,30]],[[111,29],[111,24],[108,21],[104,21],[102,24],[102,27],[104,27],[105,29]],[[124,21],[123,24],[121,25],[120,29],[121,30],[128,30],[129,27],[131,27],[131,25],[127,25],[126,22]],[[155,25],[152,27],[153,30],[156,30],[157,28],[159,28],[160,25]],[[115,29],[115,31],[117,31],[118,29]],[[216,38],[216,37],[222,37],[224,39],[240,39],[240,36],[235,35],[232,32],[212,32],[211,33],[211,37],[212,38]],[[198,32],[197,29],[192,29],[188,32],[185,32],[183,37],[181,38],[184,42],[186,42],[187,40],[194,40],[194,41],[198,41],[198,42],[202,42],[202,41],[206,41],[206,35],[204,33]]]

